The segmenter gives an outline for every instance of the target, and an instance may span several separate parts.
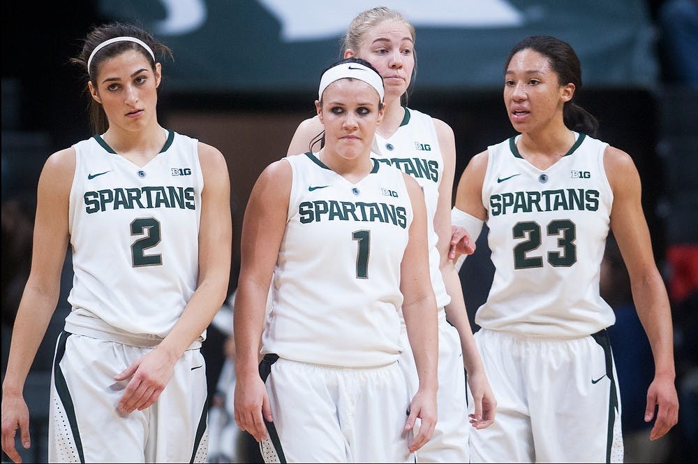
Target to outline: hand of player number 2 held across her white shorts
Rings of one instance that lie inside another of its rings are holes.
[[[131,377],[119,400],[119,411],[142,411],[153,405],[170,382],[176,362],[177,360],[172,360],[168,354],[156,348],[115,375],[114,380],[117,381]]]

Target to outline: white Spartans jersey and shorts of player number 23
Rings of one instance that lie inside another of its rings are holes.
[[[608,146],[584,134],[546,170],[519,136],[488,147],[482,187],[496,272],[475,333],[496,421],[473,462],[622,462],[621,403],[599,294],[613,193]],[[533,444],[535,443],[535,447]]]

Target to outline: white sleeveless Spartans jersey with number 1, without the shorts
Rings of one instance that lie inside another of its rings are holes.
[[[403,174],[373,160],[356,184],[317,154],[292,168],[286,231],[274,268],[262,353],[373,367],[397,360],[400,266],[413,210]]]

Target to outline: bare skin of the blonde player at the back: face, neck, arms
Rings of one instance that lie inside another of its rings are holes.
[[[356,57],[369,61],[383,77],[385,117],[376,126],[376,133],[385,138],[392,136],[399,128],[405,115],[400,98],[407,92],[415,68],[415,43],[410,30],[403,22],[384,21],[366,33],[359,50],[347,49],[344,52],[344,57]],[[446,291],[451,296],[451,303],[445,307],[446,317],[450,324],[456,327],[461,339],[463,364],[468,371],[468,386],[473,393],[475,403],[475,413],[471,415],[470,422],[475,428],[485,428],[494,420],[496,400],[489,382],[487,382],[487,377],[484,375],[480,354],[477,353],[473,333],[470,330],[461,282],[453,265],[453,260],[457,257],[456,252],[450,253],[452,185],[456,164],[454,133],[445,122],[436,118],[432,119],[444,162],[433,226],[439,237],[436,246],[441,256],[441,274]],[[309,149],[310,141],[322,129],[318,117],[306,119],[299,124],[287,154],[306,152]],[[470,240],[464,229],[456,243],[461,254],[471,254],[475,251],[475,241]]]

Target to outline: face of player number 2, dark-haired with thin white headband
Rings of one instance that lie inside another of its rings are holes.
[[[102,104],[110,127],[137,131],[157,120],[160,70],[161,65],[156,63],[153,71],[150,62],[136,50],[126,50],[99,64],[96,86],[89,82],[89,90],[92,98]]]

